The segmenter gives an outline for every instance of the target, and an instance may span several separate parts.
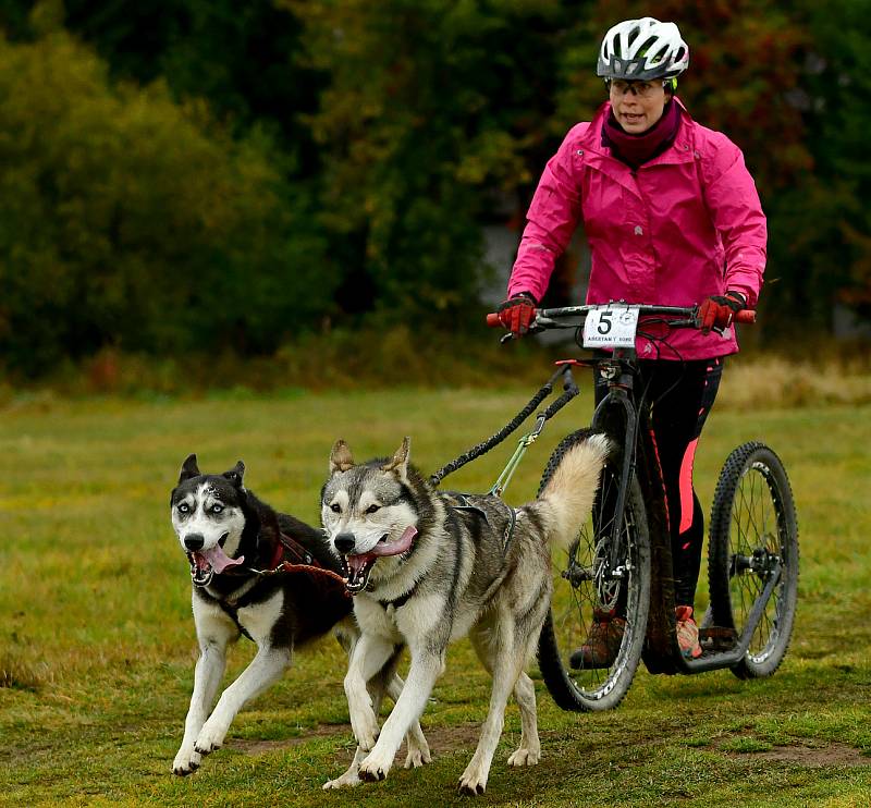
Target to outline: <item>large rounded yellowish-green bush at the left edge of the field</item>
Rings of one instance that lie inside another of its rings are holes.
[[[160,84],[110,85],[63,33],[0,41],[9,366],[38,371],[103,344],[271,351],[316,325],[332,291],[324,245],[269,152]]]

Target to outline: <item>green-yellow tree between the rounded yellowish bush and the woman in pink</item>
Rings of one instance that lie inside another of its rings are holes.
[[[310,119],[324,227],[356,250],[376,305],[456,322],[476,295],[493,195],[531,179],[525,151],[552,86],[547,36],[560,4],[289,5],[330,77]]]

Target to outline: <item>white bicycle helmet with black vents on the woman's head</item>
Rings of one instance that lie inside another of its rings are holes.
[[[674,78],[689,65],[689,47],[674,23],[625,20],[602,40],[596,74],[604,78]]]

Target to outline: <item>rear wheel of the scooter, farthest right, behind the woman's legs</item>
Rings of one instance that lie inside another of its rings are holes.
[[[732,669],[739,678],[777,670],[798,598],[798,526],[789,479],[780,457],[752,441],[728,456],[714,493],[708,544],[714,625],[740,637],[753,603],[778,572],[747,654]]]

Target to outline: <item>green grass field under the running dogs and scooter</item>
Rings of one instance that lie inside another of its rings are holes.
[[[321,785],[353,752],[331,639],[296,659],[243,711],[199,772],[171,774],[196,658],[187,563],[169,491],[188,452],[204,469],[237,458],[273,505],[317,521],[330,446],[392,452],[433,470],[491,434],[530,391],[412,391],[131,402],[15,401],[0,412],[0,805],[414,806],[465,801],[454,784],[477,743],[488,681],[466,642],[424,717],[431,766],[394,769],[352,792]],[[574,412],[573,412],[574,411]],[[531,495],[550,448],[589,400],[548,427],[507,499]],[[871,805],[871,405],[723,407],[697,462],[710,503],[737,443],[761,439],[790,474],[801,578],[793,646],[765,681],[727,671],[639,672],[618,710],[554,707],[532,665],[543,757],[508,771],[519,736],[511,705],[480,805]],[[451,478],[481,490],[511,448]],[[228,681],[247,663],[234,650]]]

